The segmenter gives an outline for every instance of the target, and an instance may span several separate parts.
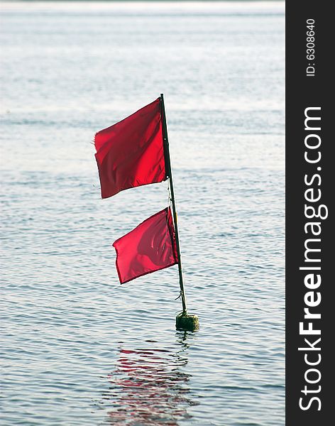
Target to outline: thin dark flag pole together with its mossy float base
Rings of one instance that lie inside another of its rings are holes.
[[[167,137],[167,124],[166,124],[166,115],[165,115],[163,93],[160,94],[160,107],[161,107],[161,116],[162,116],[165,170],[166,170],[166,175],[169,178],[170,194],[171,194],[171,201],[172,201],[172,215],[173,215],[173,221],[175,222],[175,240],[176,240],[177,255],[178,255],[180,296],[181,296],[181,299],[182,299],[182,314],[177,315],[176,327],[180,328],[180,329],[194,330],[194,329],[197,329],[199,327],[199,320],[198,320],[197,315],[187,315],[187,305],[186,305],[184,280],[183,280],[183,276],[182,276],[182,257],[181,257],[181,254],[180,254],[180,241],[179,241],[179,232],[178,232],[177,209],[175,207],[175,190],[173,188],[173,180],[172,180],[172,168],[171,168],[171,159],[170,159],[169,139]]]

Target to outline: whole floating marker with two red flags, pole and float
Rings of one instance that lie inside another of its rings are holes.
[[[197,315],[187,313],[163,94],[126,119],[99,131],[94,145],[102,198],[168,180],[172,212],[169,205],[114,241],[116,270],[123,284],[177,264],[177,298],[182,301],[182,312],[176,317],[176,328],[198,329]]]

